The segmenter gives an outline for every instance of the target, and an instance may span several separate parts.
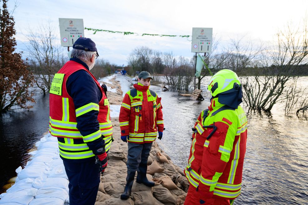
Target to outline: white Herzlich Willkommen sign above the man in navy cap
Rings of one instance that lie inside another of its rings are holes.
[[[79,37],[84,37],[84,21],[79,18],[59,18],[61,46],[73,46]]]

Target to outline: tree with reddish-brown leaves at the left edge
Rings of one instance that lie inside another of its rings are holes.
[[[0,1],[0,112],[18,108],[31,108],[28,101],[34,102],[30,89],[33,77],[16,53],[13,37],[14,18],[7,10],[7,0]]]

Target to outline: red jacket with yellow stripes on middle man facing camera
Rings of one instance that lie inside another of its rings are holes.
[[[135,84],[125,94],[121,105],[121,136],[129,135],[128,141],[137,144],[153,142],[157,131],[164,129],[161,109],[161,98],[149,90],[149,86]]]

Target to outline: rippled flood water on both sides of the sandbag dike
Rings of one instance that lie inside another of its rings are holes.
[[[119,81],[126,78],[118,75]],[[205,90],[205,85],[201,88]],[[162,92],[159,86],[151,89],[162,98],[166,127],[162,140],[157,143],[175,164],[184,168],[190,151],[191,128],[200,112],[209,106],[209,94],[203,94],[204,101],[195,101],[178,92]],[[27,150],[48,129],[48,97],[38,97],[36,101],[35,108],[29,112],[0,117],[1,187],[16,176],[15,169],[24,164]],[[278,106],[271,115],[247,112],[247,116],[242,193],[234,204],[307,204],[307,121],[285,117]]]

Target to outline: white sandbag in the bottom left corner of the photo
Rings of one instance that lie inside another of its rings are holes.
[[[0,200],[0,204],[12,202],[19,203],[22,205],[28,205],[33,199],[34,197],[29,196],[27,191],[18,191],[7,193],[6,195],[4,195]]]

